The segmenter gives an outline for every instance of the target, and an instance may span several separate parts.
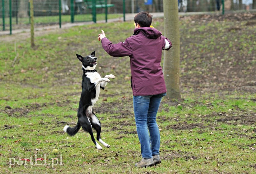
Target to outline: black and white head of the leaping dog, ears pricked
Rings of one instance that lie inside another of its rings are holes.
[[[82,62],[84,70],[94,70],[97,65],[97,57],[95,57],[95,51],[91,55],[83,57],[79,54],[76,57]]]

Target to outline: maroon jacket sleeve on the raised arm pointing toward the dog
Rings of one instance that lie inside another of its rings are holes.
[[[132,54],[132,48],[127,39],[124,42],[113,44],[108,38],[101,39],[103,49],[113,57],[124,57]]]

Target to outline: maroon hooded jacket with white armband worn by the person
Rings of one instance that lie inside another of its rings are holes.
[[[108,38],[102,38],[101,44],[110,56],[130,57],[134,96],[166,92],[160,63],[162,49],[169,50],[172,43],[160,31],[152,27],[135,28],[134,35],[124,42],[113,44]]]

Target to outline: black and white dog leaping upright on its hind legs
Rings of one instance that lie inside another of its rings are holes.
[[[100,138],[100,120],[93,113],[92,107],[98,100],[100,95],[100,88],[104,89],[107,85],[107,82],[110,82],[109,78],[114,79],[115,76],[109,74],[106,75],[105,78],[100,77],[100,74],[95,70],[97,65],[97,57],[95,57],[95,51],[86,57],[82,57],[78,54],[76,57],[82,62],[82,70],[84,72],[82,80],[82,93],[77,111],[78,121],[75,127],[69,127],[66,125],[63,130],[67,132],[68,135],[74,136],[82,126],[84,131],[90,133],[96,148],[101,150],[102,147],[95,141],[93,137],[92,128],[94,128],[97,132],[97,140],[105,147],[109,148],[110,146]]]

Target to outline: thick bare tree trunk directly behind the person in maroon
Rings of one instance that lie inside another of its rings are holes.
[[[164,51],[164,79],[169,99],[180,99],[180,31],[177,0],[164,0],[164,36],[172,48]]]

